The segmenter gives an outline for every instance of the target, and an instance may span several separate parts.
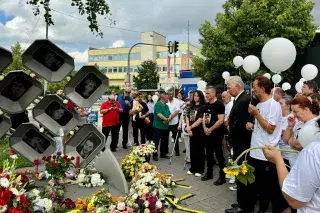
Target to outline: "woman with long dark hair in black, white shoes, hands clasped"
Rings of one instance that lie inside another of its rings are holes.
[[[201,177],[205,164],[205,143],[202,127],[202,117],[205,107],[205,99],[202,91],[196,90],[193,94],[190,108],[186,119],[186,132],[190,136],[191,168],[189,175]]]

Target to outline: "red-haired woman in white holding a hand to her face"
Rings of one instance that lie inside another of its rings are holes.
[[[319,116],[319,103],[316,100],[299,95],[292,100],[291,108],[294,116],[288,117],[288,128],[283,133],[283,141],[289,144],[293,149],[302,150],[298,134],[302,127],[317,126]],[[292,159],[290,165],[295,162]]]

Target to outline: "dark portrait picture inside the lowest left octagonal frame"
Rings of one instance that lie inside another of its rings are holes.
[[[33,150],[42,154],[51,145],[45,137],[34,129],[30,129],[23,137],[22,140],[28,144]]]

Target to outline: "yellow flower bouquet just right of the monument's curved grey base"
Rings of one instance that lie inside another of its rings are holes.
[[[131,181],[136,171],[141,167],[145,159],[133,153],[128,154],[121,161],[121,169],[128,181]]]

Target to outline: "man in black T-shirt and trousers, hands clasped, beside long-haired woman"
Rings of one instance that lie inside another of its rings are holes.
[[[203,130],[206,143],[206,160],[207,173],[201,178],[206,181],[213,178],[213,153],[215,152],[219,162],[220,175],[214,185],[222,185],[226,182],[223,168],[225,167],[225,159],[222,151],[222,140],[224,136],[224,105],[217,99],[214,87],[206,88],[206,97],[208,103],[203,114]]]

